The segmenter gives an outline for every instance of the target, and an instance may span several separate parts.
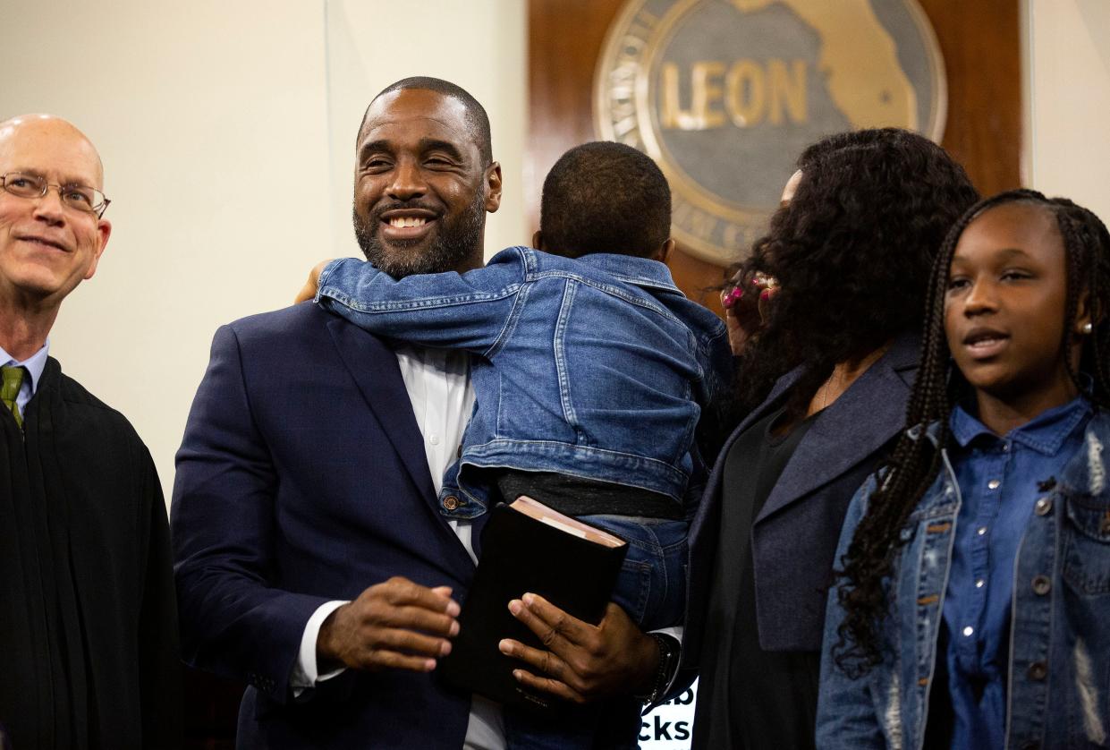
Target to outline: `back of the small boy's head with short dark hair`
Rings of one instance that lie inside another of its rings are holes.
[[[623,143],[576,146],[544,180],[544,249],[567,258],[648,258],[670,237],[670,188],[652,159]]]

